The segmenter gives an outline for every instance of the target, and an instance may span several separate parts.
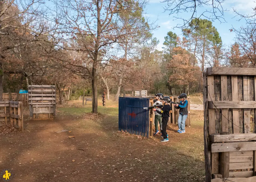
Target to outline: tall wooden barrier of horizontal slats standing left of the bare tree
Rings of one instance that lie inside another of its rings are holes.
[[[28,85],[30,116],[34,120],[54,119],[56,108],[55,85]]]

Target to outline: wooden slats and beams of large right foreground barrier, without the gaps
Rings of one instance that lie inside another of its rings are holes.
[[[253,126],[251,120],[254,118],[251,116],[251,109],[254,109],[255,112],[256,108],[254,103],[256,101],[256,69],[241,68],[240,70],[240,68],[208,68],[207,70],[209,102],[207,109],[210,135],[216,133],[216,113],[214,112],[214,108],[221,108],[220,111],[222,114],[222,132],[220,132],[220,135],[215,134],[214,136],[216,137],[214,137],[214,139],[211,136],[211,142],[213,142],[213,144],[211,144],[211,174],[220,173],[223,178],[226,179],[226,177],[229,177],[228,179],[231,181],[236,181],[237,178],[256,176],[256,134],[251,133],[254,131],[251,128]],[[220,75],[221,101],[214,100],[214,75]],[[227,76],[229,75],[231,76],[232,101],[227,99]],[[238,83],[240,79],[239,76],[242,76],[243,81],[242,99],[240,97],[241,95],[239,95],[239,93],[241,94],[241,90],[239,90],[241,89],[241,85],[239,85],[241,82]],[[254,78],[254,88],[251,88],[252,76]],[[251,97],[250,92],[251,94],[253,92],[254,97]],[[230,118],[228,117],[228,108],[232,109],[232,120],[229,119],[230,121],[228,120],[228,118]],[[243,130],[239,127],[242,122],[239,121],[239,109],[243,109]],[[231,126],[233,126],[234,134],[226,135],[225,137],[225,135],[223,136],[222,134],[229,131],[229,122],[232,122]],[[240,131],[242,132],[241,134],[239,134]],[[221,138],[223,140],[221,140]]]

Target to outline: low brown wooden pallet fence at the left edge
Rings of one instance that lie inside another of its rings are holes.
[[[0,125],[13,124],[23,131],[22,102],[0,101]]]

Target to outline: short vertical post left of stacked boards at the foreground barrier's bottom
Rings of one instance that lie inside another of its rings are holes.
[[[229,135],[229,133],[220,132],[220,135]],[[229,177],[229,152],[220,153],[220,174],[223,178]]]

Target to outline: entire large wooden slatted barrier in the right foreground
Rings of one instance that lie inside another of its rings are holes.
[[[256,68],[204,73],[206,182],[256,181]]]

